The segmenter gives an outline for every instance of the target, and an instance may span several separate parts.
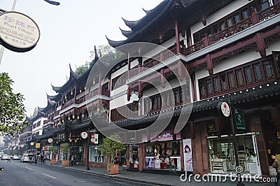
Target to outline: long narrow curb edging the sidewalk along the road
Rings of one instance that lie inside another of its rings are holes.
[[[103,176],[103,177],[106,177],[106,178],[113,178],[113,179],[118,179],[118,180],[127,180],[127,181],[130,181],[130,182],[136,182],[136,183],[145,183],[145,184],[149,184],[149,185],[160,185],[160,186],[176,186],[176,185],[167,185],[167,184],[162,184],[162,183],[155,183],[155,182],[145,181],[145,180],[135,180],[135,179],[132,179],[132,178],[123,178],[123,177],[120,177],[118,175],[111,176],[111,175],[108,175],[108,174],[94,173],[94,172],[89,172],[89,171],[86,171],[86,170],[71,169],[67,166],[50,165],[50,164],[48,164],[48,166],[57,166],[61,169],[68,169],[68,170],[71,170],[71,171],[78,171],[80,173],[88,173],[88,174],[92,174],[92,175],[95,175],[95,176]]]

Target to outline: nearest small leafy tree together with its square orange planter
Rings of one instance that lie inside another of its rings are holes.
[[[118,164],[116,160],[116,153],[122,152],[126,149],[125,144],[120,142],[120,136],[114,134],[109,138],[104,138],[103,144],[100,146],[104,156],[108,157],[107,173],[118,174]]]

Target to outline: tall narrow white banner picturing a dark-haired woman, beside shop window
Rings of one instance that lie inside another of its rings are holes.
[[[191,139],[183,139],[183,155],[185,171],[193,171],[193,155]]]

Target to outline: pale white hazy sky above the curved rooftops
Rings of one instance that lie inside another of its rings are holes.
[[[31,17],[41,31],[36,47],[24,53],[4,50],[0,72],[8,72],[15,93],[25,96],[27,115],[37,106],[47,106],[46,93],[56,94],[50,84],[62,86],[72,69],[90,61],[94,45],[124,40],[120,29],[129,30],[121,17],[139,20],[162,0],[61,0],[53,6],[43,0],[17,0],[15,11]],[[0,0],[11,10],[13,0]]]

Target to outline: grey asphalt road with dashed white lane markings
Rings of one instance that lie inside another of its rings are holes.
[[[8,163],[1,160],[0,167],[2,166],[4,171],[0,175],[0,185],[6,186],[144,185],[143,183],[128,180],[118,180],[116,178],[94,176],[69,169],[60,169],[48,164],[28,164],[15,160]]]

